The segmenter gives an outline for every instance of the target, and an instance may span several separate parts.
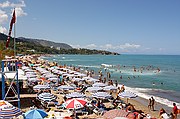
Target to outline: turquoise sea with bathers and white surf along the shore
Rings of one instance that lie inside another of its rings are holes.
[[[124,84],[126,90],[139,97],[154,96],[161,104],[172,107],[175,102],[180,106],[180,55],[54,55],[43,58],[81,70],[101,70],[104,76],[110,72],[112,80]]]

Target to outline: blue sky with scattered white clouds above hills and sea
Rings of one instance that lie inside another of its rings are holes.
[[[180,55],[180,0],[0,0],[0,32],[121,54]]]

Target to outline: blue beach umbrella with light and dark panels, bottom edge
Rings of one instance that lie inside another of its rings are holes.
[[[48,114],[41,109],[29,110],[25,114],[25,119],[44,119]]]

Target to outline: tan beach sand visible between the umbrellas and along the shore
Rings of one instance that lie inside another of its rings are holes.
[[[39,56],[38,56],[39,57]],[[36,56],[35,59],[38,59],[38,57]],[[24,60],[23,60],[24,61]],[[29,61],[24,61],[24,62],[30,62],[31,60]],[[36,61],[33,61],[34,64]],[[42,61],[42,62],[45,62],[45,61]],[[32,62],[30,62],[32,64]],[[51,62],[49,64],[52,64]],[[56,63],[54,63],[56,64]],[[57,65],[57,64],[56,64]],[[51,66],[51,65],[50,65]],[[51,67],[54,67],[54,65],[52,65]],[[62,67],[62,66],[61,66]],[[50,68],[50,67],[49,67]],[[64,67],[63,67],[64,68]],[[76,68],[74,68],[76,69]],[[41,73],[38,72],[38,71],[35,71],[38,75],[38,78],[41,77]],[[52,72],[52,71],[51,71]],[[75,70],[73,71],[75,72]],[[85,73],[85,72],[84,72]],[[95,76],[94,76],[95,77]],[[97,77],[97,76],[96,76]],[[44,81],[43,81],[44,82]],[[66,85],[70,85],[71,83],[73,83],[72,81],[68,81],[66,82],[65,84]],[[37,100],[37,96],[38,94],[36,93],[27,93],[28,91],[28,86],[27,86],[27,82],[26,80],[23,81],[23,94],[20,94],[20,97],[21,97],[21,109],[23,112],[27,112],[28,110],[30,110],[30,108],[32,108],[34,106],[34,103],[32,103],[34,100],[36,101]],[[75,91],[75,90],[74,90]],[[74,91],[68,91],[69,93],[70,92],[74,92]],[[50,89],[50,92],[55,95],[57,97],[56,101],[61,104],[64,100],[64,96],[65,94],[60,94],[60,93],[57,93],[57,91],[53,90],[53,89]],[[89,97],[91,96],[90,93],[85,93],[86,94],[86,97]],[[116,97],[116,92],[113,92],[112,93],[112,96]],[[130,103],[134,106],[134,108],[136,110],[141,110],[143,112],[144,115],[150,115],[151,118],[159,118],[159,110],[161,108],[164,108],[168,114],[170,114],[172,112],[172,108],[170,107],[167,107],[165,105],[162,105],[160,103],[156,103],[155,102],[155,110],[154,111],[151,111],[148,109],[148,100],[146,99],[143,99],[141,97],[136,97],[136,98],[132,98],[132,99],[128,99],[128,103],[127,103],[127,99],[126,98],[120,98],[120,100],[122,100],[123,102],[125,102],[126,104]],[[36,101],[36,105],[37,108],[41,108],[42,107],[42,104],[40,101]],[[109,108],[112,106],[112,103],[111,102],[106,102],[104,103],[105,107],[106,108]],[[47,111],[47,113],[50,111],[50,110],[58,110],[56,109],[56,107],[51,107],[51,108],[45,108],[44,110]],[[69,113],[69,110],[68,109],[61,109],[61,112],[59,112],[62,115],[69,115],[70,116],[70,113]],[[54,113],[53,113],[54,114]],[[100,118],[104,118],[103,115],[97,115],[95,113],[92,113],[92,114],[89,114],[89,115],[79,115],[79,118],[80,119],[100,119]],[[178,118],[179,118],[179,115],[178,115]]]

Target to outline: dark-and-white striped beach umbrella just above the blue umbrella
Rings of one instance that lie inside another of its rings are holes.
[[[42,101],[50,102],[50,101],[55,100],[57,97],[52,93],[41,93],[37,96],[37,98]]]

